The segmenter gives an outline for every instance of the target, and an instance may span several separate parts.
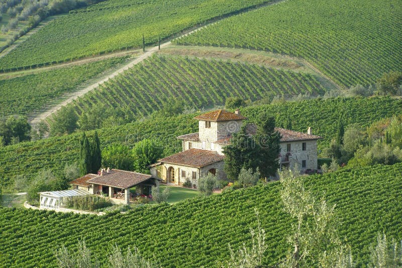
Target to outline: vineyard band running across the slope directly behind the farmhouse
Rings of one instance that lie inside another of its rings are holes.
[[[324,140],[319,142],[319,150],[328,145],[335,137],[336,125],[340,117],[345,125],[359,123],[368,126],[381,118],[400,114],[402,100],[391,98],[335,98],[314,99],[299,102],[285,102],[276,105],[251,106],[242,109],[242,113],[257,121],[261,111],[267,111],[278,117],[277,125],[287,115],[292,120],[293,129],[307,131],[313,127],[313,133],[321,135]],[[101,147],[121,143],[132,147],[136,142],[148,138],[155,139],[165,148],[165,154],[179,152],[181,143],[177,136],[197,131],[198,124],[192,117],[195,114],[185,114],[169,118],[149,118],[138,122],[99,129]],[[88,132],[92,135],[92,131]],[[38,170],[51,169],[60,175],[66,163],[78,162],[79,133],[63,137],[49,138],[37,142],[21,143],[0,148],[0,178],[3,185],[10,186],[13,176],[24,174],[29,178],[35,176]]]

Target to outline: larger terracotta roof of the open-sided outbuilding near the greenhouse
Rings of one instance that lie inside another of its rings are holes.
[[[111,169],[109,173],[104,171],[102,176],[96,176],[95,178],[90,179],[87,182],[126,189],[151,178],[153,177],[148,174]]]

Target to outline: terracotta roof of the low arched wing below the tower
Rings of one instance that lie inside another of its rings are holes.
[[[192,148],[184,152],[159,159],[158,162],[202,168],[208,166],[209,164],[222,161],[224,158],[225,156],[218,155],[214,151]]]

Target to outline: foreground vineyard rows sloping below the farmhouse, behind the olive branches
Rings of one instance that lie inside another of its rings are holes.
[[[359,265],[368,262],[378,231],[402,239],[402,196],[395,190],[402,187],[401,170],[402,164],[373,166],[307,178],[307,188],[336,204],[338,230]],[[257,208],[268,245],[264,262],[272,265],[291,247],[286,237],[292,221],[282,211],[279,187],[276,182],[102,217],[0,209],[0,262],[52,266],[53,251],[62,244],[74,249],[79,238],[104,264],[117,243],[123,249],[136,245],[144,257],[165,267],[211,267],[228,258],[228,243],[233,248],[249,243]]]

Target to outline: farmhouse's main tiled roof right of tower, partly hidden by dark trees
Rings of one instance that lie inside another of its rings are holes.
[[[275,130],[278,131],[280,133],[280,135],[282,136],[282,138],[280,139],[281,142],[322,139],[322,137],[317,136],[317,135],[307,134],[307,133],[289,130],[289,129],[285,129],[285,128],[280,128],[280,127],[275,127]],[[256,132],[257,132],[256,124],[247,124],[246,125],[246,133],[248,135],[255,135]],[[229,145],[230,138],[232,138],[232,137],[227,137],[227,138],[221,139],[221,140],[217,141],[216,144]]]

